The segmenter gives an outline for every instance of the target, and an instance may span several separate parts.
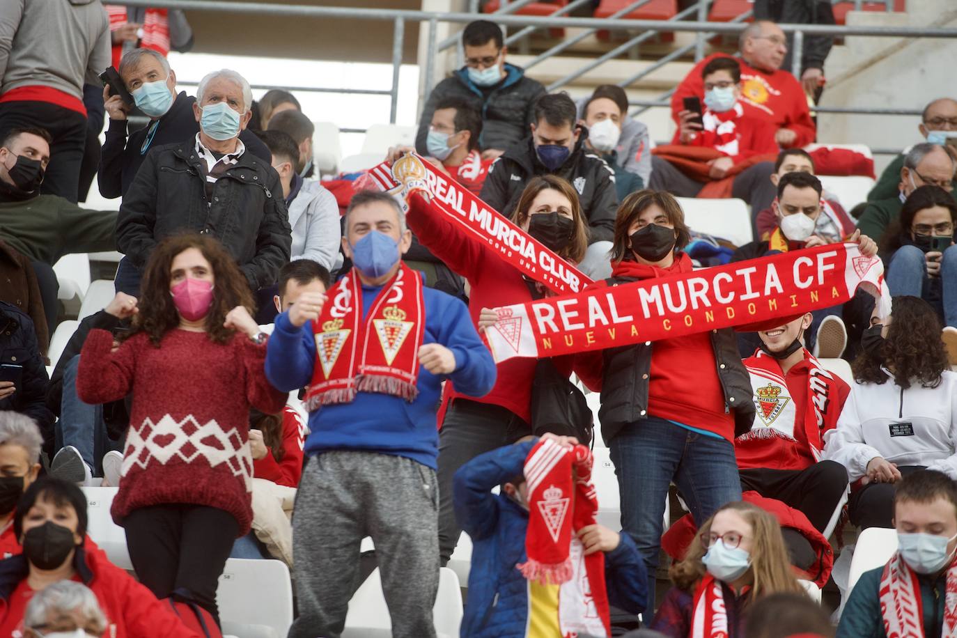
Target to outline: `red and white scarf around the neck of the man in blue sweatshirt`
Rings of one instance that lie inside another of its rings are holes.
[[[418,348],[425,335],[423,309],[422,279],[402,264],[362,320],[362,284],[353,268],[333,286],[313,323],[317,363],[305,407],[348,403],[356,392],[414,400]]]

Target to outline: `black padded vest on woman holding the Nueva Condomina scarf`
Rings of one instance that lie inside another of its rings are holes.
[[[635,279],[609,279],[610,285],[630,281]],[[628,424],[648,418],[648,385],[654,347],[652,341],[608,348],[602,352],[604,364],[598,420],[605,441],[611,441]],[[724,392],[724,409],[734,411],[734,435],[738,437],[751,429],[754,422],[751,380],[738,353],[733,329],[712,330],[711,347],[715,353],[715,371]]]

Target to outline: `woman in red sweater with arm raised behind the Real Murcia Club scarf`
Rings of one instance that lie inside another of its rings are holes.
[[[478,322],[482,308],[524,303],[547,289],[509,266],[495,249],[464,236],[450,219],[435,214],[417,194],[410,197],[409,228],[446,266],[468,279],[469,313]],[[588,247],[588,230],[575,189],[553,175],[528,182],[512,221],[569,263],[577,264]],[[531,434],[530,407],[534,359],[510,359],[498,365],[492,391],[476,399],[451,392],[452,403],[438,443],[438,544],[444,564],[452,556],[461,528],[452,507],[452,477],[482,452],[515,443]],[[451,385],[451,384],[449,384]],[[448,389],[448,388],[447,388]]]

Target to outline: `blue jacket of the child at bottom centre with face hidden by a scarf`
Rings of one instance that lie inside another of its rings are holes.
[[[516,563],[524,562],[528,512],[492,488],[523,472],[528,441],[488,451],[456,472],[456,519],[472,537],[469,600],[461,635],[468,638],[523,638],[528,620],[528,582]],[[627,534],[605,555],[609,603],[635,615],[645,608],[648,578],[644,562]]]

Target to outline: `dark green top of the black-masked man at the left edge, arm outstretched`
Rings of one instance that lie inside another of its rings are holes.
[[[56,195],[17,201],[0,188],[0,239],[34,261],[115,251],[116,230],[116,210],[81,209]]]

